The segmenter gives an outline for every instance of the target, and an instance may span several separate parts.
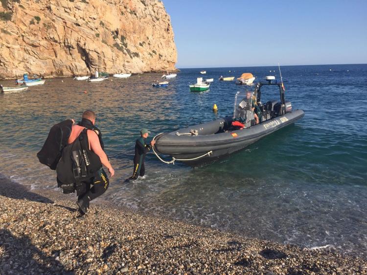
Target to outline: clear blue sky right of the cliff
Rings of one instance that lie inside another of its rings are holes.
[[[367,63],[367,0],[163,0],[176,67]]]

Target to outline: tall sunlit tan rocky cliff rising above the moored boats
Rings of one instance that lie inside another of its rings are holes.
[[[0,0],[0,78],[175,70],[160,0]]]

